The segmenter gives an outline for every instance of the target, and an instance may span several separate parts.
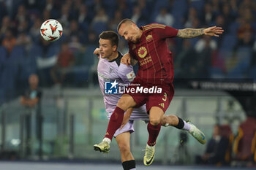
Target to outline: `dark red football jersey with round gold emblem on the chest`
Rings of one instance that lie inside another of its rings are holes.
[[[140,42],[129,42],[129,54],[138,60],[137,78],[151,84],[173,82],[173,56],[168,49],[167,38],[175,37],[178,30],[170,26],[152,23],[140,27]]]

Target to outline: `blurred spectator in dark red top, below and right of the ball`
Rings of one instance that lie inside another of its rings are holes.
[[[74,59],[67,42],[64,42],[61,45],[61,52],[58,55],[56,65],[50,70],[50,75],[55,85],[61,85],[64,82],[66,71],[74,64]]]

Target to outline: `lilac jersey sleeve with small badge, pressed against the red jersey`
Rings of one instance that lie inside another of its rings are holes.
[[[132,82],[135,78],[135,72],[133,72],[133,68],[131,65],[127,66],[123,63],[120,63],[118,69],[118,77],[121,78],[125,83]]]

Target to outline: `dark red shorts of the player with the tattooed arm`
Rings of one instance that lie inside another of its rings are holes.
[[[141,90],[144,88],[151,90]],[[162,89],[161,92],[159,89]],[[147,112],[149,112],[151,107],[159,107],[165,112],[170,105],[170,101],[173,99],[174,87],[172,83],[152,85],[141,82],[140,79],[135,78],[135,80],[133,80],[127,87],[127,90],[124,91],[124,94],[132,96],[137,104],[136,107],[141,107],[143,104],[146,104]]]

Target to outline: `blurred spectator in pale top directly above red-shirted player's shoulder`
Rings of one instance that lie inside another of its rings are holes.
[[[166,26],[173,26],[174,18],[173,15],[167,12],[165,7],[162,7],[155,21],[157,23],[165,24]]]

